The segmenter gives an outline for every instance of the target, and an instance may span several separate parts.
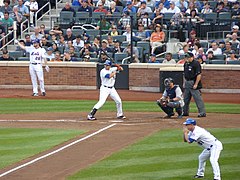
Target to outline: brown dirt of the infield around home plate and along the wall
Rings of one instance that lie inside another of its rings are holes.
[[[134,101],[155,101],[161,95],[159,93],[118,91],[122,100]],[[0,98],[36,98],[30,96],[30,90],[1,90]],[[98,99],[98,91],[47,91],[46,97],[37,99]],[[203,94],[205,102],[216,103],[239,103],[240,94]],[[86,112],[87,113],[87,112]],[[11,172],[0,179],[11,180],[32,180],[32,179],[65,179],[68,175],[74,174],[80,169],[106,158],[112,153],[121,150],[137,140],[151,135],[152,133],[166,128],[182,128],[184,119],[178,120],[162,119],[164,115],[148,112],[126,112],[127,119],[124,122],[117,122],[115,113],[99,111],[98,120],[88,122],[86,113],[33,113],[33,114],[3,114],[0,117],[1,127],[25,127],[25,128],[59,128],[59,129],[84,129],[87,134],[81,135],[70,142],[54,147],[47,152],[43,152],[34,157],[30,157],[22,162],[0,170],[0,174],[18,167],[24,163],[41,157],[47,153],[57,150],[66,144],[86,137],[99,129],[112,125],[111,128],[100,132],[84,141],[76,143],[56,154],[41,159],[19,170]],[[196,117],[197,114],[191,114]],[[208,113],[206,118],[195,118],[203,127],[240,127],[239,115],[226,115]],[[24,121],[19,121],[24,120]],[[39,121],[41,120],[41,121]],[[217,123],[216,123],[217,122]]]

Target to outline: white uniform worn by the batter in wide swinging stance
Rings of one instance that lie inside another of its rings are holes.
[[[100,78],[102,85],[100,87],[100,95],[98,103],[93,107],[95,109],[100,109],[107,100],[108,95],[115,101],[117,107],[117,117],[123,116],[122,111],[122,100],[118,95],[116,89],[114,88],[116,75],[109,78],[112,72],[117,71],[117,67],[111,67],[109,70],[103,68],[100,71]]]

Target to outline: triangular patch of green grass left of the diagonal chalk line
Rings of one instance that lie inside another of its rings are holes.
[[[0,128],[0,168],[43,152],[84,131]]]

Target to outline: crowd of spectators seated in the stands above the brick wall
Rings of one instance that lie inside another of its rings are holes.
[[[39,4],[36,0],[18,0],[14,3],[4,0],[4,5],[0,8],[1,37],[7,30],[13,29],[13,21],[17,21],[19,26],[24,19],[29,18],[30,25],[34,27],[34,13],[39,9]],[[67,26],[62,26],[61,22],[56,23],[52,29],[46,29],[44,24],[34,27],[34,32],[26,34],[25,39],[20,42],[31,46],[31,40],[41,40],[41,46],[46,48],[49,61],[58,62],[103,62],[109,57],[117,58],[121,53],[126,57],[132,53],[133,63],[182,64],[182,57],[188,51],[191,51],[200,63],[211,63],[216,59],[227,63],[239,59],[240,3],[237,0],[73,0],[71,3],[66,2],[61,12],[72,12],[74,17],[78,12],[89,13],[87,22],[95,26],[98,34],[91,34],[88,29],[74,31],[72,26],[76,20],[73,20]],[[94,23],[93,15],[96,12],[102,12],[104,16]],[[199,29],[207,23],[205,15],[209,13],[216,13],[218,16],[229,13],[230,19],[226,21],[230,22],[230,26],[229,34],[224,39],[205,45]],[[167,19],[169,14],[171,17]],[[174,31],[175,37],[183,44],[176,54],[166,52],[168,32],[171,30],[177,30]],[[146,42],[149,48],[140,46],[139,42]],[[1,46],[4,44],[2,40]],[[16,51],[21,49],[17,47]],[[162,52],[166,52],[165,58],[158,58],[158,54]],[[28,55],[26,52],[23,54]]]

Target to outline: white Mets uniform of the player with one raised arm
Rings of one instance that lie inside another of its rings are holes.
[[[33,46],[26,46],[26,51],[30,53],[30,65],[29,65],[29,73],[31,76],[33,93],[38,93],[38,83],[39,81],[41,92],[45,92],[44,88],[44,78],[43,78],[43,68],[42,63],[45,58],[46,50],[44,48],[35,48]]]

